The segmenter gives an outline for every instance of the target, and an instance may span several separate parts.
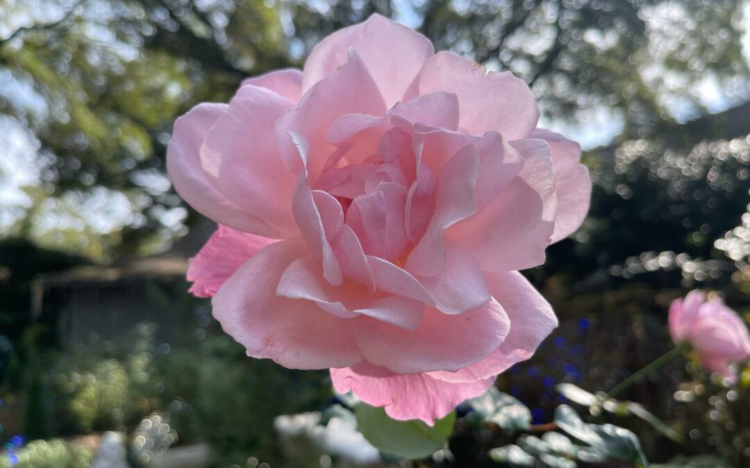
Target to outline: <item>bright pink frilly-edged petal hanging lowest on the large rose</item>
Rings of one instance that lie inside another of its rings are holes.
[[[367,363],[331,369],[331,378],[337,392],[352,391],[367,404],[386,407],[393,419],[422,419],[428,425],[446,416],[461,401],[486,392],[494,382],[489,378],[450,383],[429,374],[395,374]]]

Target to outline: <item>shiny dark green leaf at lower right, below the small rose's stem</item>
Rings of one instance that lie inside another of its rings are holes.
[[[555,410],[555,422],[562,431],[612,458],[632,461],[638,467],[648,466],[643,449],[640,448],[640,441],[627,429],[610,424],[595,425],[583,422],[573,408],[565,404]]]

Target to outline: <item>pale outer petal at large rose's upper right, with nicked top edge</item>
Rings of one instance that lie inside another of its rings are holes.
[[[410,90],[413,96],[447,91],[458,96],[459,130],[482,135],[490,130],[512,141],[527,138],[536,127],[539,111],[526,83],[510,72],[488,71],[468,58],[438,52],[430,58]]]

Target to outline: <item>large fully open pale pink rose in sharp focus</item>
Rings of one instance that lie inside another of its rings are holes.
[[[520,79],[383,16],[338,31],[175,123],[175,188],[221,225],[192,291],[249,356],[431,423],[557,325],[517,270],[580,225],[591,183],[537,119]]]

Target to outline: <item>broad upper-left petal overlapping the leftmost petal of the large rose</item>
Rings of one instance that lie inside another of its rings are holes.
[[[281,112],[292,106],[266,88],[243,86],[208,131],[200,152],[217,189],[285,237],[299,236],[290,204],[295,177],[279,156],[274,129]]]

